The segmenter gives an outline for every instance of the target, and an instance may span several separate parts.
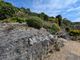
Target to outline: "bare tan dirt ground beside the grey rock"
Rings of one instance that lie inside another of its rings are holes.
[[[61,51],[54,52],[45,60],[80,60],[80,43],[66,41]]]

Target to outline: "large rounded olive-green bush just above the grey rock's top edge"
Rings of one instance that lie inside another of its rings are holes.
[[[41,27],[43,27],[43,21],[38,17],[31,17],[27,19],[26,21],[27,21],[28,26],[30,27],[34,27],[37,29],[40,29]]]

